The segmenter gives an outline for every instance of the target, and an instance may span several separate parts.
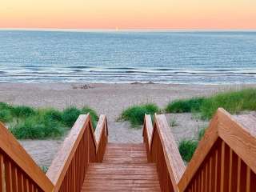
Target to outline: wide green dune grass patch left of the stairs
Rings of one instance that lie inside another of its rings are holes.
[[[90,113],[95,128],[98,115],[90,107],[82,110],[68,107],[60,111],[53,108],[34,109],[29,106],[10,106],[0,102],[0,121],[9,123],[9,130],[18,139],[45,139],[62,137],[80,114]]]

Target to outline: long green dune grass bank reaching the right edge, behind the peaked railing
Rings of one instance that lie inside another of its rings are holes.
[[[256,110],[256,89],[245,89],[215,94],[209,98],[191,98],[170,102],[166,107],[169,113],[196,112],[202,119],[209,120],[219,107],[230,114],[243,110]]]

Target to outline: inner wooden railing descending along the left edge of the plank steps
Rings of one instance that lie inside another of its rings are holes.
[[[90,116],[79,116],[46,173],[54,184],[54,191],[81,190],[88,164],[102,162],[107,135],[106,115],[100,116],[95,135]]]

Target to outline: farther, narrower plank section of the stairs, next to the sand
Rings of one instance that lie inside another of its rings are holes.
[[[144,143],[108,143],[103,162],[146,163],[146,146]]]

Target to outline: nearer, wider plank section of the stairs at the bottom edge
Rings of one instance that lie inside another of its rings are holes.
[[[160,191],[154,163],[91,163],[82,191]]]

